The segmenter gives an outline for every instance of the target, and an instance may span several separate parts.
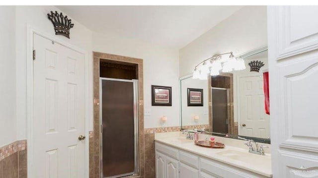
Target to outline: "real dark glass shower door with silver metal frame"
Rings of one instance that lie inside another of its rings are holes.
[[[102,178],[138,174],[137,83],[100,78]]]

